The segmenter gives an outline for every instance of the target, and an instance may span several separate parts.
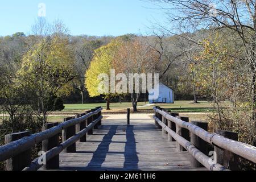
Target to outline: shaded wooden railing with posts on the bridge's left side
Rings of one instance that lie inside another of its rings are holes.
[[[0,146],[0,162],[6,160],[7,171],[35,171],[59,168],[60,152],[76,152],[76,142],[86,142],[86,134],[101,125],[102,108],[65,118],[63,123],[48,123],[43,131],[30,134],[30,131],[5,136],[6,144]],[[62,133],[62,143],[59,142]],[[31,162],[32,147],[42,142],[42,156]]]

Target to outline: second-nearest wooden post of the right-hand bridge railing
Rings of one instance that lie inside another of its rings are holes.
[[[200,122],[200,121],[192,121],[192,124],[201,127],[201,129],[204,129],[208,131],[208,123],[205,122]],[[208,156],[207,154],[207,142],[205,142],[203,139],[200,137],[197,137],[197,135],[191,133],[191,143],[196,146],[198,150],[203,152],[205,155]],[[191,167],[203,167],[202,164],[200,164],[193,156],[191,156]]]

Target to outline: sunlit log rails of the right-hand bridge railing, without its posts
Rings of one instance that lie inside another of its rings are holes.
[[[251,146],[246,143],[238,142],[236,140],[222,137],[221,135],[218,135],[216,133],[212,133],[212,134],[208,133],[208,131],[201,129],[199,126],[193,125],[192,123],[189,123],[189,122],[182,121],[179,118],[172,117],[170,114],[166,113],[165,111],[160,110],[159,107],[154,107],[153,109],[155,110],[155,113],[162,115],[168,121],[174,122],[179,127],[188,129],[189,131],[191,131],[191,133],[193,133],[193,134],[197,135],[198,137],[200,137],[201,139],[205,140],[205,142],[208,142],[210,144],[213,144],[214,146],[218,146],[220,148],[223,148],[225,150],[233,152],[234,154],[237,154],[238,156],[241,156],[242,158],[245,158],[247,160],[250,160],[251,162],[256,163],[256,147]],[[166,125],[163,125],[164,123],[162,123],[162,121],[160,121],[159,118],[154,116],[154,119],[155,119],[155,121],[157,121],[159,123],[160,126],[164,127],[165,130],[172,137],[177,138],[177,136],[175,136],[176,133],[172,132],[172,130],[170,130],[169,127],[167,127]],[[179,140],[177,140],[177,142],[179,142],[181,145],[183,143],[180,138],[179,138]],[[189,142],[189,141],[187,141],[187,142]],[[185,148],[185,146],[183,146],[183,147]],[[201,164],[203,164],[203,163],[201,163]],[[205,164],[203,164],[203,165],[205,166]],[[205,167],[207,167],[207,166],[205,166]]]

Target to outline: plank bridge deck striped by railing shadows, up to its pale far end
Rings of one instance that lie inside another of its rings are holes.
[[[60,154],[60,170],[205,170],[191,168],[188,152],[177,152],[148,114],[132,114],[130,126],[125,117],[106,115],[76,153]]]

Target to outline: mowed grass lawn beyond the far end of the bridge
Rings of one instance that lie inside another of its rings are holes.
[[[165,109],[169,109],[175,113],[180,113],[184,117],[189,117],[191,119],[195,120],[206,120],[207,119],[207,113],[209,111],[213,110],[213,105],[210,102],[207,101],[199,101],[199,104],[192,104],[192,101],[175,101],[174,104],[155,104],[150,106],[144,106],[148,104],[148,102],[145,104],[145,102],[139,102],[138,103],[138,110],[143,111],[152,111],[152,108],[154,106],[160,106]],[[111,103],[110,104],[110,111],[106,110],[106,103],[100,103],[100,104],[65,104],[65,109],[63,111],[55,111],[52,112],[48,116],[49,122],[61,122],[65,117],[73,116],[77,113],[81,113],[85,110],[94,109],[95,107],[103,107],[103,113],[104,112],[119,112],[119,111],[126,111],[127,108],[132,107],[130,102],[124,102],[122,104],[120,103]],[[144,107],[141,107],[144,106]],[[183,113],[183,114],[182,114]],[[0,117],[1,122],[1,117]]]

